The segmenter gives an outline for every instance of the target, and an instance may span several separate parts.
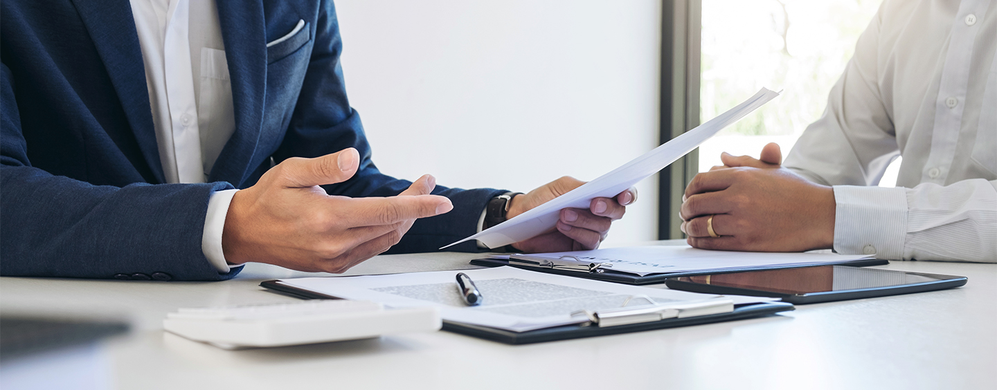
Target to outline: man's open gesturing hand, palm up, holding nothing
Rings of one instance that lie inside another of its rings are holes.
[[[289,158],[236,192],[221,239],[225,260],[342,273],[397,244],[417,218],[454,208],[429,195],[436,186],[430,175],[389,198],[330,196],[319,187],[352,177],[359,158],[354,148]]]

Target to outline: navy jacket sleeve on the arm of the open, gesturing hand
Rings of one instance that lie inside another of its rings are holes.
[[[160,273],[215,281],[237,274],[219,275],[200,246],[208,197],[227,184],[97,186],[33,167],[16,87],[3,65],[0,275],[111,279]]]

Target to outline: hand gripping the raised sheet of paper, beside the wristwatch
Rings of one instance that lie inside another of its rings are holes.
[[[585,182],[564,176],[529,193],[516,195],[511,200],[506,217],[511,219],[582,184]],[[512,247],[525,253],[596,249],[606,239],[612,222],[623,218],[625,206],[636,200],[637,190],[630,188],[613,198],[592,199],[588,209],[562,209],[554,230],[512,244]]]

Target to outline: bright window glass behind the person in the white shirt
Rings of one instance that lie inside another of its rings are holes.
[[[762,87],[781,97],[700,147],[699,170],[721,165],[720,153],[758,157],[776,142],[789,153],[817,120],[831,87],[881,0],[702,0],[701,120],[724,112]],[[899,159],[881,186],[896,183]]]

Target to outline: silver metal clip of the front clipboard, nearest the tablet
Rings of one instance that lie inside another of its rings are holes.
[[[650,304],[627,306],[627,303],[634,298],[645,299]],[[730,311],[734,311],[734,300],[726,296],[695,301],[658,303],[647,295],[632,295],[626,298],[620,307],[603,310],[578,310],[572,312],[571,316],[585,315],[588,317],[588,324],[607,327]]]

